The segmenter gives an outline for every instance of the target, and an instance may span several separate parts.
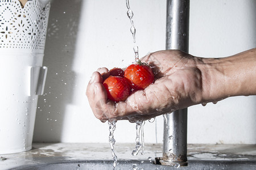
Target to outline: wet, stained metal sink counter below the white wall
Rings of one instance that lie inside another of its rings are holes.
[[[117,143],[115,169],[175,169],[153,164],[162,144],[145,145],[144,155],[132,156],[134,143]],[[108,143],[34,143],[18,154],[0,155],[0,169],[113,169]],[[179,169],[256,169],[256,145],[188,145],[188,165]]]

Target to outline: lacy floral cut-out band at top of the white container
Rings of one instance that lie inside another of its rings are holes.
[[[0,0],[0,49],[44,50],[50,4]]]

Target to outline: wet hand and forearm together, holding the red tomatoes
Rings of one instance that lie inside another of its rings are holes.
[[[256,48],[224,58],[200,58],[179,50],[162,50],[141,59],[153,68],[155,83],[126,101],[107,99],[102,82],[106,68],[93,73],[86,95],[94,115],[108,119],[147,120],[199,103],[230,96],[256,95]]]

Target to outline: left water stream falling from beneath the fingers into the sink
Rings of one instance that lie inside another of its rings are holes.
[[[115,139],[114,139],[114,131],[115,131],[115,120],[108,121],[109,124],[109,145],[112,151],[112,158],[113,158],[113,169],[115,169],[117,165],[117,155],[115,155],[114,152],[114,145],[115,145]]]

